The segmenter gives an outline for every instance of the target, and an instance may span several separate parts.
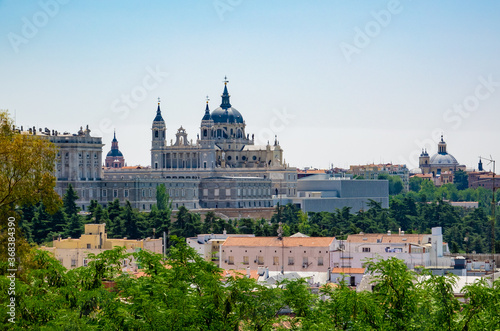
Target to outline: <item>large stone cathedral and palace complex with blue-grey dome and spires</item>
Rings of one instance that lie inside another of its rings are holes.
[[[295,196],[297,171],[283,161],[277,137],[273,144],[255,145],[229,98],[225,81],[220,107],[210,112],[207,101],[197,139],[189,139],[181,126],[170,144],[158,102],[151,127],[151,166],[146,167],[124,166],[115,136],[103,168],[102,138],[92,137],[88,126],[77,134],[20,131],[49,139],[60,149],[56,191],[62,196],[71,184],[83,211],[91,200],[107,204],[114,199],[149,211],[160,184],[166,186],[174,209],[271,207],[273,195]]]

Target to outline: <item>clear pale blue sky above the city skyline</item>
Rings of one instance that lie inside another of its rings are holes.
[[[418,166],[441,134],[460,164],[500,158],[500,2],[0,0],[0,109],[18,126],[89,125],[149,165],[196,140],[207,96],[290,166]],[[488,162],[484,162],[488,164]],[[486,165],[490,169],[492,165]],[[497,171],[498,172],[498,171]]]

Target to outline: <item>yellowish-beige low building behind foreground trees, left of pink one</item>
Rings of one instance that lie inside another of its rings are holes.
[[[127,253],[137,252],[139,250],[148,250],[154,253],[162,253],[163,245],[161,239],[142,239],[130,240],[108,239],[105,232],[106,224],[85,224],[85,233],[79,239],[67,238],[53,241],[52,247],[41,248],[52,252],[66,269],[87,266],[88,254],[99,254],[105,250],[115,247],[125,247]],[[123,267],[133,267],[134,260],[127,259],[123,261]]]

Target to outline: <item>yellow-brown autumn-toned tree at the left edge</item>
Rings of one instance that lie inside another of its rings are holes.
[[[60,198],[54,191],[54,164],[57,149],[47,139],[20,134],[13,130],[12,120],[0,110],[0,217],[6,225],[7,215],[16,207],[42,201],[51,212],[57,210]]]

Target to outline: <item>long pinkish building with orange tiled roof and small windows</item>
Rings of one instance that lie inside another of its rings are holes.
[[[333,237],[230,237],[220,246],[220,267],[327,272],[336,243]]]

